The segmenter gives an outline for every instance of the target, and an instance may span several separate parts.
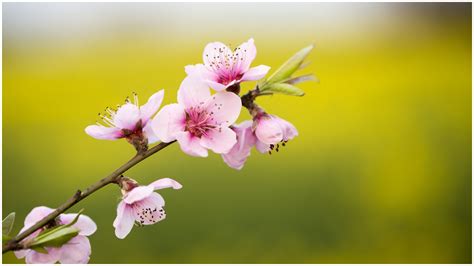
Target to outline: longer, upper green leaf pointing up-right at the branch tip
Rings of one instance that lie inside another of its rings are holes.
[[[278,68],[275,73],[273,73],[267,81],[265,81],[260,87],[260,91],[264,91],[268,89],[268,86],[274,83],[281,82],[285,79],[288,79],[295,73],[296,70],[301,66],[304,59],[308,56],[308,54],[313,49],[313,45],[305,47],[301,49],[299,52],[294,54],[288,61],[286,61],[283,65]]]

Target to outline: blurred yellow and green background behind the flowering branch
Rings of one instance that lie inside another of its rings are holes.
[[[3,3],[3,216],[19,230],[133,156],[84,133],[106,106],[171,103],[208,42],[250,37],[273,69],[315,44],[319,83],[258,99],[300,136],[241,171],[177,145],[144,161],[127,175],[184,188],[125,240],[116,187],[74,207],[99,228],[91,262],[470,263],[470,3]]]

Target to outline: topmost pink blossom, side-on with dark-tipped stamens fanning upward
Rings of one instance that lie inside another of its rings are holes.
[[[256,55],[253,39],[234,51],[221,42],[211,42],[204,48],[204,65],[188,65],[185,71],[189,76],[200,78],[214,90],[222,91],[241,81],[259,80],[268,73],[270,67],[265,65],[250,68]]]

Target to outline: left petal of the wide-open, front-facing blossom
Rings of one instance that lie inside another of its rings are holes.
[[[175,134],[184,131],[186,113],[183,105],[169,104],[161,108],[151,121],[151,127],[155,135],[163,142],[176,139]]]

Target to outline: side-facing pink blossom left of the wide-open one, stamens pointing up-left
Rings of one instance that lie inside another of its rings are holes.
[[[146,137],[148,143],[156,142],[158,139],[148,122],[160,108],[163,95],[164,91],[160,90],[153,94],[146,104],[139,106],[138,97],[134,94],[134,103],[127,99],[127,102],[116,111],[107,107],[107,115],[101,115],[105,126],[100,123],[90,125],[86,127],[86,133],[96,139],[127,138],[130,140]]]

